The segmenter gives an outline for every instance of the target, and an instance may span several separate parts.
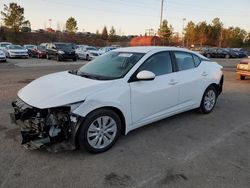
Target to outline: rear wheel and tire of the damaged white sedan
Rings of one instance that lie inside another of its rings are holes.
[[[217,102],[217,91],[213,86],[209,86],[203,94],[199,111],[203,114],[209,114],[214,109]]]

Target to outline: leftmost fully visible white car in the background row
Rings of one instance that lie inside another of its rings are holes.
[[[8,45],[5,48],[5,54],[8,58],[28,58],[28,50],[20,45]]]

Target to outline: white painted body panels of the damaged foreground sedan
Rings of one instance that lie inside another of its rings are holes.
[[[222,67],[209,61],[203,61],[194,69],[156,76],[151,81],[128,82],[148,57],[173,50],[190,52],[171,47],[120,48],[115,51],[146,53],[124,78],[92,80],[60,72],[31,82],[18,96],[29,105],[42,109],[84,100],[73,111],[82,117],[98,108],[116,108],[125,118],[128,133],[137,127],[199,107],[205,89],[210,84],[219,84]]]

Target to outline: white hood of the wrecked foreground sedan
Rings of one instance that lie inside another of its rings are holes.
[[[108,88],[112,82],[83,78],[65,71],[34,80],[18,92],[18,97],[36,108],[52,108],[83,101],[88,95]]]

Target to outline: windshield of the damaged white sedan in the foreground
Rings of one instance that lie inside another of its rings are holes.
[[[103,79],[121,78],[127,74],[143,55],[143,53],[111,51],[81,67],[78,75],[94,75]]]

